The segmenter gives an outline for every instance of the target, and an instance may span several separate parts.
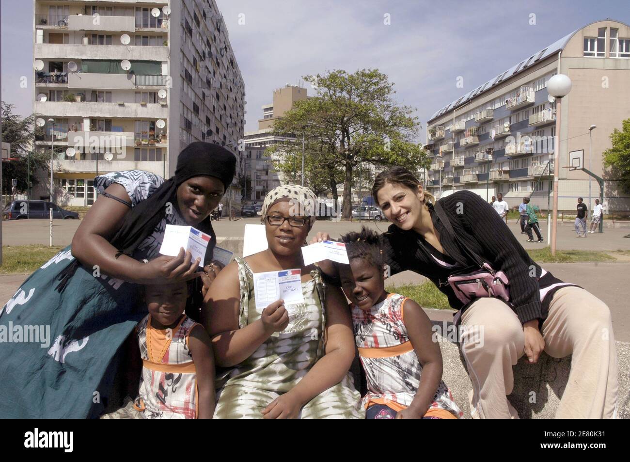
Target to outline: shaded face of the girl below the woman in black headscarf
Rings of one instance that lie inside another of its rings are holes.
[[[187,296],[186,282],[155,284],[146,287],[144,301],[151,317],[166,328],[176,323],[183,314]]]

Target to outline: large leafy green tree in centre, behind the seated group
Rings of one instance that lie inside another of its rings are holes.
[[[394,101],[394,84],[377,69],[353,74],[343,70],[325,75],[305,76],[317,94],[297,101],[273,125],[273,134],[284,141],[271,149],[280,158],[299,154],[301,169],[302,136],[306,164],[326,172],[333,198],[337,183],[343,183],[342,216],[350,217],[353,176],[360,163],[378,167],[402,165],[412,171],[426,164],[418,137],[418,118],[413,108]],[[306,158],[310,158],[306,161]],[[287,166],[280,162],[281,170]],[[341,182],[338,181],[341,175]],[[305,171],[306,176],[306,171]]]

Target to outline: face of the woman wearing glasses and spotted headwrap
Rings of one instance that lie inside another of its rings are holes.
[[[287,200],[280,200],[280,202],[276,202],[269,207],[266,216],[276,218],[304,218],[304,226],[291,226],[288,220],[285,220],[278,226],[269,224],[267,219],[264,221],[269,249],[273,253],[285,257],[301,253],[300,249],[302,244],[306,241],[306,236],[311,229],[309,217],[297,217],[292,214],[292,211],[295,211],[295,207],[287,198]]]

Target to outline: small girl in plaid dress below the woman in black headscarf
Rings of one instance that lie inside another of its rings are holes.
[[[147,419],[212,419],[214,356],[203,326],[184,314],[186,282],[146,286],[136,328],[142,376],[135,408]]]

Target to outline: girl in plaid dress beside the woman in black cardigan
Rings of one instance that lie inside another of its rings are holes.
[[[367,378],[366,419],[462,417],[442,381],[442,354],[428,316],[410,298],[385,291],[378,234],[364,227],[341,241],[350,265],[338,269]]]

